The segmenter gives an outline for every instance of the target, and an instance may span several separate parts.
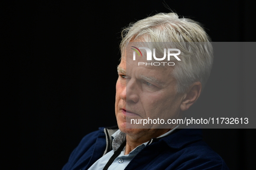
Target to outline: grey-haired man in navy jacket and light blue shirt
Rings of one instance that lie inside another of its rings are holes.
[[[212,47],[204,29],[160,13],[130,25],[122,37],[118,127],[86,135],[63,170],[228,169],[199,129],[166,123],[183,118],[210,75]]]

